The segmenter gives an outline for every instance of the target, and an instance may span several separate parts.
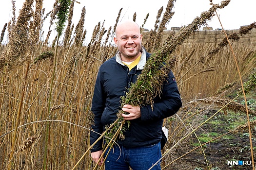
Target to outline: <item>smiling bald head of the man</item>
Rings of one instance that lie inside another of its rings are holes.
[[[133,21],[126,21],[117,26],[114,41],[123,61],[134,61],[141,54],[142,34],[138,24]]]

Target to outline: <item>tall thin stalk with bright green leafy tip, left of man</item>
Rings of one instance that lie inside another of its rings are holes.
[[[57,66],[57,52],[58,52],[58,44],[59,44],[59,37],[63,33],[66,20],[68,18],[69,8],[71,5],[71,0],[59,0],[59,10],[57,11],[57,27],[56,31],[58,33],[57,35],[57,43],[55,46],[55,54],[54,54],[54,64],[53,64],[53,72],[52,72],[52,78],[51,78],[51,86],[50,86],[50,93],[49,93],[49,99],[48,99],[48,115],[50,116],[51,113],[51,102],[52,102],[52,91],[53,91],[53,83],[55,79],[55,69]],[[45,133],[45,148],[44,148],[44,158],[43,158],[43,170],[47,170],[46,165],[46,159],[47,159],[47,152],[48,152],[48,135],[49,135],[49,122],[47,122],[46,125],[46,133]]]

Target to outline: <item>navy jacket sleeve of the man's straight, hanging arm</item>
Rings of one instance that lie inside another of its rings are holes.
[[[99,136],[101,136],[103,132],[103,125],[100,122],[100,119],[105,107],[105,98],[104,98],[103,85],[102,85],[101,78],[102,76],[99,68],[96,83],[95,83],[95,88],[94,88],[92,107],[91,107],[91,111],[94,116],[94,122],[91,126],[92,131],[90,132],[90,145],[92,145],[99,138]],[[102,150],[102,142],[103,142],[103,138],[101,138],[93,146],[93,148],[91,149],[91,152]]]

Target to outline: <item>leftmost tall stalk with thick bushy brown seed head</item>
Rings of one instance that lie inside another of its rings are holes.
[[[14,1],[13,6],[15,6]],[[3,51],[2,56],[0,57],[0,72],[3,71],[7,73],[14,66],[19,66],[28,60],[28,33],[29,33],[29,20],[31,18],[31,7],[33,4],[33,0],[26,0],[23,3],[23,6],[20,10],[20,16],[15,23],[15,19],[13,19],[13,23],[11,26],[13,27],[12,31],[9,34],[9,43],[5,51]],[[15,10],[15,7],[13,7]],[[9,22],[10,23],[10,22]],[[10,27],[11,27],[10,26]],[[10,30],[8,30],[10,31]],[[8,170],[12,169],[12,159],[14,157],[14,151],[16,147],[16,136],[18,134],[18,126],[20,124],[21,111],[23,107],[23,100],[25,95],[25,87],[27,84],[27,75],[28,69],[30,66],[30,62],[28,60],[27,67],[24,72],[24,78],[21,86],[21,94],[19,99],[19,106],[17,111],[16,119],[13,117],[12,124],[15,126],[14,133],[11,135],[11,152],[9,156],[8,162]]]

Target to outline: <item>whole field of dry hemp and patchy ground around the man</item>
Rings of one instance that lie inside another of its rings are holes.
[[[89,152],[90,105],[98,68],[117,51],[112,45],[116,25],[105,29],[104,23],[99,22],[93,34],[87,35],[85,8],[74,26],[74,1],[65,2],[66,8],[59,8],[56,3],[50,13],[44,14],[40,0],[35,9],[33,0],[25,0],[17,19],[10,20],[2,30],[1,41],[8,34],[8,43],[0,45],[1,170],[99,169]],[[227,0],[224,2],[202,13],[179,34],[170,33],[162,43],[164,26],[172,17],[174,0],[170,0],[165,11],[159,9],[150,38],[143,40],[143,46],[155,54],[151,62],[165,61],[168,67],[163,72],[173,70],[183,101],[178,113],[164,120],[169,139],[162,151],[163,169],[225,170],[226,160],[238,160],[241,154],[248,160],[253,158],[256,48],[239,41],[256,28],[256,23],[248,23],[237,33],[227,35],[230,42],[235,42],[233,46],[229,46],[224,33],[223,41],[217,44],[198,43],[188,48],[185,43],[218,8],[228,5]],[[45,17],[50,18],[49,31],[41,28]],[[61,17],[66,19],[64,27]],[[59,34],[50,41],[56,23]],[[42,39],[41,33],[47,31],[47,37]],[[83,43],[86,36],[91,36],[88,44]],[[161,77],[156,73],[153,78],[157,76]],[[152,85],[158,91],[156,88]],[[139,90],[135,86],[128,97],[133,98]],[[226,152],[227,148],[233,148],[233,157],[232,152]],[[225,153],[217,156],[218,150]],[[222,161],[211,159],[214,154],[214,158],[222,156]],[[184,166],[191,161],[189,167]],[[252,165],[246,168],[252,169]]]

